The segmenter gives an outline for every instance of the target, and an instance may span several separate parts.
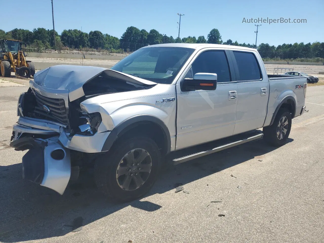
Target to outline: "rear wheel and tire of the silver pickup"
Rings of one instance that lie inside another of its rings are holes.
[[[263,128],[263,137],[270,145],[279,147],[286,143],[290,130],[291,114],[289,110],[281,108],[273,124]]]

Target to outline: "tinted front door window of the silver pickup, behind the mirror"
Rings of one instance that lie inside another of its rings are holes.
[[[193,75],[196,73],[217,74],[217,82],[230,82],[228,62],[224,51],[206,51],[201,53],[192,64]]]

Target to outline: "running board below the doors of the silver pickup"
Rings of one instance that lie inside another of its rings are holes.
[[[204,150],[204,151],[199,151],[199,152],[196,152],[196,153],[192,153],[192,150],[196,150],[196,149],[191,149],[191,148],[184,149],[184,150],[189,150],[190,149],[191,154],[186,155],[186,156],[182,156],[182,157],[179,157],[179,158],[174,158],[174,159],[172,159],[172,161],[173,161],[174,165],[177,165],[177,164],[189,161],[191,159],[196,159],[196,158],[199,158],[199,157],[202,157],[202,156],[205,156],[205,155],[210,155],[210,154],[219,152],[219,151],[227,149],[227,148],[231,148],[231,147],[234,147],[234,146],[237,146],[237,145],[245,144],[247,142],[255,141],[255,140],[261,139],[262,137],[263,137],[263,133],[261,133],[261,131],[253,131],[252,133],[250,132],[248,134],[244,133],[244,134],[235,135],[235,136],[230,137],[230,138],[215,141],[214,145],[215,145],[215,143],[217,143],[217,146],[212,147],[212,148],[207,149],[207,150]],[[231,138],[235,138],[235,140],[233,141],[233,139],[231,139]],[[203,145],[199,145],[199,146],[202,147]],[[210,147],[210,144],[207,144],[204,147],[206,149],[206,147],[207,148]],[[179,152],[181,153],[181,151],[179,151]],[[175,153],[177,153],[177,152],[175,152]],[[181,153],[181,154],[183,154],[183,153]]]

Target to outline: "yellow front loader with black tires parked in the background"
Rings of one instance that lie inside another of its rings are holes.
[[[35,65],[26,61],[21,43],[16,40],[0,40],[0,75],[3,77],[10,77],[11,72],[24,78],[34,76]]]

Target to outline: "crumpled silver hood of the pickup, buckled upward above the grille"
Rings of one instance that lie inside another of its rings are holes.
[[[30,82],[49,89],[68,90],[69,99],[73,101],[84,96],[82,86],[102,72],[105,72],[106,75],[112,78],[121,79],[137,85],[156,85],[154,82],[111,69],[77,65],[55,65],[48,67],[37,72],[34,76],[34,81]]]

